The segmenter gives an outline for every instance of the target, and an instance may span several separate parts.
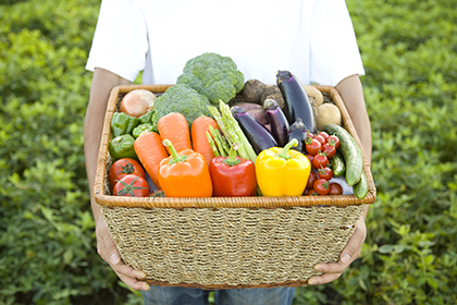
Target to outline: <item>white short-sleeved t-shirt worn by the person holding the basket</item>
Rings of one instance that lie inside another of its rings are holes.
[[[331,86],[365,74],[344,0],[104,0],[86,69],[175,84],[205,52],[232,58],[245,81],[265,84],[277,70]]]

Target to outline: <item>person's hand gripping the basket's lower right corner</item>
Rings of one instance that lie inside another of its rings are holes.
[[[325,284],[330,283],[341,277],[343,271],[360,255],[361,246],[367,236],[367,227],[365,224],[365,215],[360,217],[359,222],[356,225],[356,230],[350,236],[339,255],[338,263],[318,264],[314,266],[316,270],[322,271],[323,274],[320,277],[312,277],[309,279],[308,284]]]

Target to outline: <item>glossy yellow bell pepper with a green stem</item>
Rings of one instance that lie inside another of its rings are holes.
[[[256,160],[257,183],[263,196],[300,196],[308,183],[311,163],[300,151],[296,138],[284,148],[272,147],[260,151]]]

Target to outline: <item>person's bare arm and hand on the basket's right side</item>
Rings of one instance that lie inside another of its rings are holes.
[[[358,75],[351,75],[344,78],[336,85],[350,120],[357,131],[360,142],[363,146],[363,151],[369,162],[371,162],[371,125],[367,113],[367,107],[363,98],[363,89]],[[338,263],[318,264],[314,269],[323,272],[320,277],[312,277],[309,284],[324,284],[332,282],[341,277],[343,271],[360,255],[361,246],[367,236],[367,227],[365,219],[367,218],[368,206],[360,217],[356,225],[353,236],[343,249]]]

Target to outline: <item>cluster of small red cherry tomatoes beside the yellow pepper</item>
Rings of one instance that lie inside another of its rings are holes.
[[[343,187],[332,183],[333,170],[330,167],[330,159],[335,156],[339,147],[339,138],[335,135],[329,135],[326,132],[319,132],[316,135],[309,133],[306,139],[306,152],[312,164],[309,174],[305,195],[342,195]]]

